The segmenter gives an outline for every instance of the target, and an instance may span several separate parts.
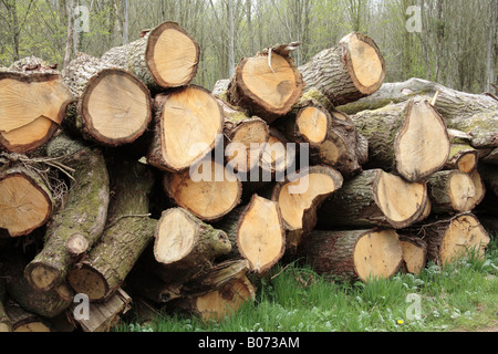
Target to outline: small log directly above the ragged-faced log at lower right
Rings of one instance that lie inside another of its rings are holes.
[[[476,207],[476,186],[466,173],[443,170],[427,178],[434,214],[467,212]]]

